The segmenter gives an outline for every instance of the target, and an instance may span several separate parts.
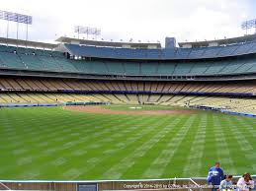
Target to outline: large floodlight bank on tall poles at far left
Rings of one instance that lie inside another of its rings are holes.
[[[28,40],[28,25],[32,25],[33,18],[29,15],[23,15],[0,10],[0,20],[7,21],[7,38],[9,34],[9,22],[17,23],[17,39],[19,38],[19,23],[27,25],[26,40]]]

